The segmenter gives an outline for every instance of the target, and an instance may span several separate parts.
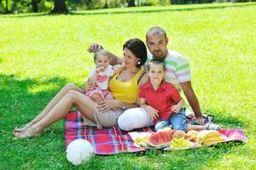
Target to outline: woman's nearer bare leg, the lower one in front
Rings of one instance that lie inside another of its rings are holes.
[[[15,136],[20,139],[37,136],[45,127],[48,127],[50,124],[66,116],[72,105],[75,105],[90,121],[95,122],[93,116],[94,107],[96,105],[95,101],[78,91],[70,90],[40,121],[34,123],[32,127],[27,128],[23,132],[15,133]]]

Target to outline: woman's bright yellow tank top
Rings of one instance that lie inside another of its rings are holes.
[[[141,68],[128,82],[120,82],[117,80],[119,73],[115,74],[109,81],[109,90],[112,93],[113,98],[128,104],[135,103],[139,90],[137,82],[143,72],[144,69]]]

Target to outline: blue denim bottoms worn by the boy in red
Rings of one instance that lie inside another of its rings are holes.
[[[188,120],[185,115],[186,109],[181,109],[178,113],[172,113],[172,116],[168,120],[159,120],[154,125],[155,131],[165,128],[172,127],[174,130],[186,131],[188,128]]]

